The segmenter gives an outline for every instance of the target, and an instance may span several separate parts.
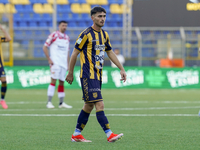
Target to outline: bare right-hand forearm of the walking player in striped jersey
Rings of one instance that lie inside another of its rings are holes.
[[[110,60],[120,69],[120,74],[121,74],[121,79],[124,82],[126,81],[126,72],[124,70],[124,67],[121,65],[121,63],[119,62],[119,60],[117,59],[117,56],[115,55],[115,53],[110,50],[110,51],[106,51],[108,57],[110,58]]]

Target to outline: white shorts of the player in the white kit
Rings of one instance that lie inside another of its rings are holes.
[[[59,79],[61,81],[65,81],[67,69],[58,65],[53,65],[50,68],[51,68],[51,77],[53,79]]]

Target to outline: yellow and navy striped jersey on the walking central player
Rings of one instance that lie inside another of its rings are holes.
[[[101,80],[105,51],[112,50],[106,31],[85,29],[76,40],[75,49],[79,50],[81,72],[80,78]]]

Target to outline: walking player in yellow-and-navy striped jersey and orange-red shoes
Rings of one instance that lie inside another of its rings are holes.
[[[81,135],[81,131],[87,124],[90,113],[95,107],[97,120],[106,133],[108,142],[115,142],[123,136],[123,133],[114,134],[104,114],[104,103],[101,95],[104,52],[107,53],[111,61],[120,69],[121,80],[124,82],[126,81],[126,73],[115,53],[112,51],[108,33],[102,29],[106,20],[105,9],[99,6],[94,7],[91,10],[91,19],[93,20],[93,25],[85,29],[76,40],[75,48],[70,59],[69,72],[66,77],[66,81],[72,84],[74,66],[77,56],[80,53],[80,80],[85,103],[79,114],[71,141],[91,142]]]

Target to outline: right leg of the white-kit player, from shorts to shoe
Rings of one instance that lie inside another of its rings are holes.
[[[66,72],[67,72],[67,70],[65,68],[60,67],[59,85],[58,85],[58,98],[60,100],[59,108],[72,108],[72,106],[67,105],[64,102],[64,98],[65,98],[64,82],[65,82],[65,78],[66,78]]]

